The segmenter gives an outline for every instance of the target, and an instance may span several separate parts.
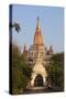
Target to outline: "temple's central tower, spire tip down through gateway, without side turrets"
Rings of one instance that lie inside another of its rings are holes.
[[[47,72],[43,65],[46,53],[41,32],[40,18],[37,18],[34,41],[30,53],[32,54],[34,62],[31,87],[46,86]]]

